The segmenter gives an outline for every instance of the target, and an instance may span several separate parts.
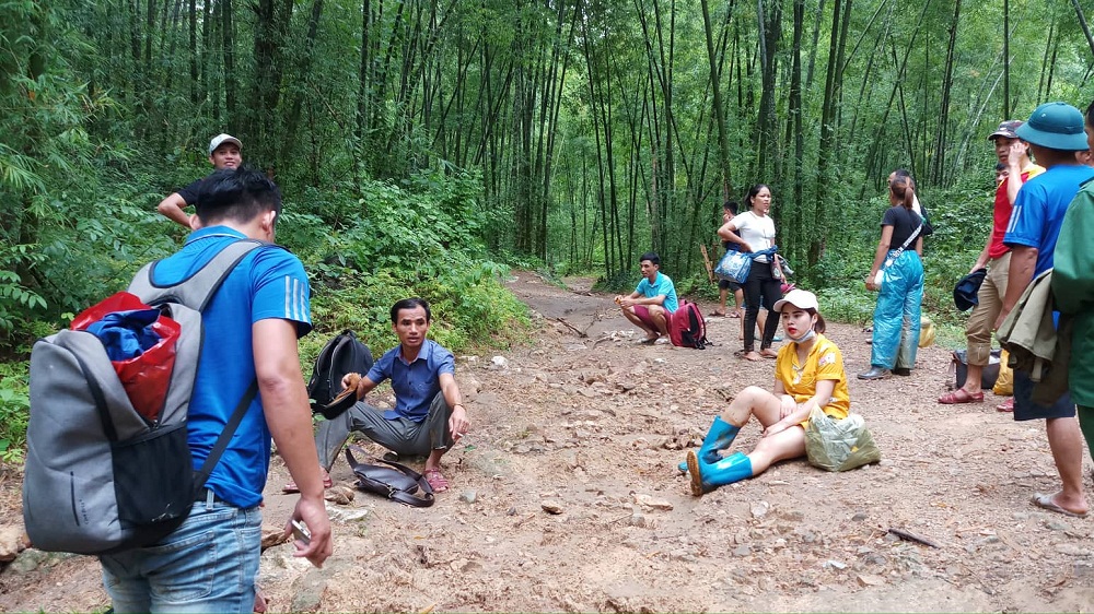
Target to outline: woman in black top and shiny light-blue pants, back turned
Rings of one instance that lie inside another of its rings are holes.
[[[874,307],[871,367],[859,374],[859,379],[881,379],[891,370],[911,375],[919,349],[923,219],[912,208],[916,188],[907,172],[889,175],[888,187],[891,206],[882,216],[882,238],[866,275],[866,288],[881,291]],[[884,279],[881,285],[880,279]]]

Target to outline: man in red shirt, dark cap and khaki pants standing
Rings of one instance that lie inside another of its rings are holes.
[[[992,214],[991,234],[985,244],[976,263],[969,269],[974,272],[987,267],[988,274],[977,292],[978,304],[965,324],[965,335],[968,339],[968,376],[965,386],[947,392],[939,398],[939,402],[950,405],[954,403],[980,403],[984,392],[980,390],[980,376],[988,365],[991,353],[991,328],[1003,306],[1006,294],[1006,274],[1010,265],[1011,249],[1003,245],[1006,224],[1011,220],[1011,209],[1019,189],[1031,177],[1045,172],[1029,161],[1029,145],[1014,133],[1022,121],[1011,119],[1003,121],[992,132],[988,140],[996,149],[996,157],[1006,165],[1006,175],[996,188],[996,205]],[[997,409],[1001,412],[1012,411],[1013,400],[1008,400]]]

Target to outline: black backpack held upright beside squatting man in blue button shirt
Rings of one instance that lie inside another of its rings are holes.
[[[365,376],[372,368],[372,352],[369,346],[358,341],[351,330],[344,330],[335,335],[315,358],[312,379],[307,381],[307,397],[312,400],[312,413],[323,414],[333,420],[353,406],[356,394],[340,394],[341,378],[346,374],[357,373]]]

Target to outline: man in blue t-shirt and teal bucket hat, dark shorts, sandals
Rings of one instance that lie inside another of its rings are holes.
[[[1052,268],[1063,214],[1080,184],[1094,177],[1094,168],[1075,161],[1074,152],[1087,149],[1083,114],[1075,107],[1040,105],[1015,134],[1029,143],[1029,152],[1046,170],[1026,181],[1014,201],[1003,236],[1003,244],[1011,248],[1011,262],[996,330],[1034,278]],[[1050,405],[1034,403],[1033,387],[1029,374],[1014,370],[1014,420],[1046,421],[1048,445],[1062,483],[1059,492],[1036,494],[1033,503],[1051,511],[1084,516],[1090,507],[1083,495],[1083,437],[1075,422],[1075,405],[1068,393]]]

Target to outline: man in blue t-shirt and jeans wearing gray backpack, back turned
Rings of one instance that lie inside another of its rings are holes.
[[[179,251],[156,263],[153,283],[187,279],[240,239],[272,241],[280,211],[281,193],[261,173],[213,173],[197,203],[197,229]],[[271,436],[300,484],[292,521],[311,532],[310,540],[295,542],[294,555],[316,566],[330,556],[330,521],[296,353],[298,338],[312,329],[307,297],[300,260],[270,245],[247,253],[202,310],[186,425],[195,470],[253,383],[258,394],[186,521],[156,546],[100,557],[115,612],[251,611]],[[290,522],[284,527],[288,535]]]

